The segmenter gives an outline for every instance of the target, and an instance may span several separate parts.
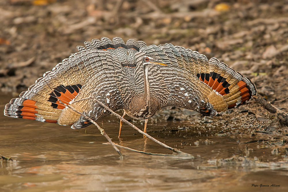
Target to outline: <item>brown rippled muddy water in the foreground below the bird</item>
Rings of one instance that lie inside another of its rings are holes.
[[[0,95],[0,111],[11,95]],[[2,113],[2,112],[1,112]],[[128,126],[118,139],[118,119],[98,121],[114,142],[154,153],[170,153]],[[136,126],[143,127],[141,122]],[[178,129],[178,126],[186,128]],[[271,149],[247,135],[213,134],[189,121],[149,123],[148,134],[190,153],[195,159],[158,157],[121,150],[124,159],[94,126],[68,126],[14,119],[0,115],[0,154],[17,162],[1,162],[0,191],[284,191],[286,168],[231,165],[218,167],[213,159],[245,155],[272,161]],[[221,129],[221,128],[215,128]],[[215,130],[214,130],[215,132]],[[208,140],[207,140],[208,139]],[[206,140],[206,141],[205,141]],[[260,146],[260,147],[259,147]],[[210,163],[209,163],[210,162]],[[281,187],[251,187],[281,185]]]

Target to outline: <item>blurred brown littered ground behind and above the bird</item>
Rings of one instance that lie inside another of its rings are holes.
[[[287,91],[277,84],[288,79],[287,0],[2,0],[0,12],[2,92],[26,89],[103,36],[190,48],[250,77],[271,100]]]

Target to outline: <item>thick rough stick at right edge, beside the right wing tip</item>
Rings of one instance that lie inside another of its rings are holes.
[[[258,95],[253,95],[254,100],[261,104],[262,107],[266,110],[268,110],[270,113],[276,113],[277,117],[283,121],[283,123],[288,126],[288,114],[282,111],[281,109],[278,109],[274,105],[272,105],[270,102],[264,100],[262,97]]]

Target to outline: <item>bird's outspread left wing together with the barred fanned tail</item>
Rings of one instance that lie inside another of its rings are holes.
[[[52,93],[65,104],[92,119],[109,114],[90,99],[71,104],[72,101],[92,96],[116,111],[123,109],[131,89],[135,86],[135,54],[143,41],[129,39],[126,43],[115,37],[93,39],[78,46],[79,52],[57,64],[52,71],[37,79],[28,91],[6,104],[4,115],[42,122],[72,125],[83,128],[90,124],[84,117],[58,102]]]

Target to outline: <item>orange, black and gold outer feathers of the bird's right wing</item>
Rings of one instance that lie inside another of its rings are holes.
[[[209,60],[206,69],[205,73],[198,73],[197,77],[211,88],[213,94],[209,94],[208,99],[217,112],[242,105],[257,94],[255,84],[249,78],[243,77],[216,58]],[[215,95],[222,99],[219,100]]]

